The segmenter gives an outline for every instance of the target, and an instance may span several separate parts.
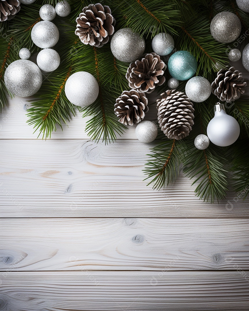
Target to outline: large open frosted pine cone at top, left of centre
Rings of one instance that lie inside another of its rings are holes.
[[[83,12],[76,18],[75,34],[81,42],[101,48],[109,41],[114,33],[115,18],[111,15],[110,7],[100,3],[84,7]]]

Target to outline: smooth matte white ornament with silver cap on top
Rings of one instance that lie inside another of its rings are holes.
[[[224,104],[214,106],[214,118],[207,127],[207,135],[216,146],[230,146],[239,137],[240,127],[235,118],[226,114]]]

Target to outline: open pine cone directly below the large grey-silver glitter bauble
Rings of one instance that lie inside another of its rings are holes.
[[[129,87],[138,92],[151,93],[156,85],[162,85],[166,69],[165,63],[156,53],[144,54],[140,60],[130,64],[126,73]]]

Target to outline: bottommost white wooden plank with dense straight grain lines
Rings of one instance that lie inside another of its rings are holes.
[[[241,272],[8,272],[3,311],[200,311],[249,307]]]

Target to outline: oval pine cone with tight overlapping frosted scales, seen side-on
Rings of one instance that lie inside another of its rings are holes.
[[[182,92],[168,90],[157,100],[158,122],[169,139],[182,139],[189,135],[194,124],[193,104]]]

